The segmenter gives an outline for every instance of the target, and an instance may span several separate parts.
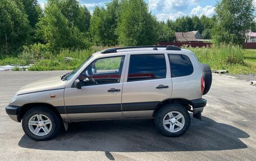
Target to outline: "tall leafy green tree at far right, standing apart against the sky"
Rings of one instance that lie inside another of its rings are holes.
[[[243,45],[246,32],[255,17],[253,0],[222,0],[217,2],[217,24],[213,38],[217,44]]]

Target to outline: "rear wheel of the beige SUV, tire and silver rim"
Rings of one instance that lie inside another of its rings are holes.
[[[177,137],[183,135],[190,126],[189,112],[181,105],[165,105],[155,119],[158,132],[164,136]]]

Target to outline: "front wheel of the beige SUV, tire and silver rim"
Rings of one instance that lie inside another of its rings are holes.
[[[31,139],[50,140],[60,131],[61,119],[50,109],[31,108],[22,119],[22,128]]]

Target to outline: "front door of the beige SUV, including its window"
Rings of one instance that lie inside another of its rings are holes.
[[[99,58],[80,74],[81,89],[65,89],[65,110],[72,121],[122,118],[125,56]]]

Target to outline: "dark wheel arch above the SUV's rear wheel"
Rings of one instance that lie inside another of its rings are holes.
[[[190,111],[191,109],[190,107],[191,102],[189,100],[181,99],[181,98],[166,99],[157,105],[156,109],[154,109],[152,117],[153,118],[156,117],[159,109],[161,109],[166,104],[179,104],[179,105],[182,105],[184,108],[186,108],[188,111]]]

